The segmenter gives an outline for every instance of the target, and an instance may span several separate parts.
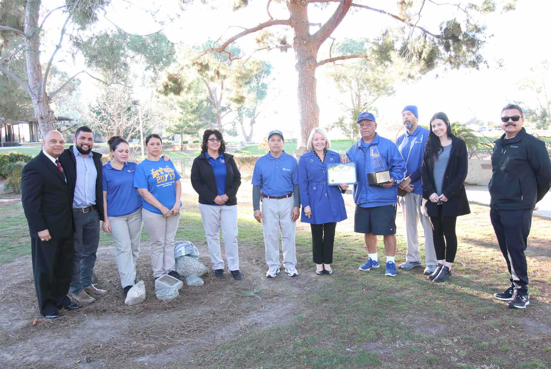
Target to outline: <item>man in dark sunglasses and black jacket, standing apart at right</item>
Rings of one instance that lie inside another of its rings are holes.
[[[522,127],[522,109],[508,104],[501,109],[505,133],[491,154],[490,220],[511,275],[511,286],[494,294],[509,307],[526,308],[528,271],[525,249],[532,225],[532,211],[551,187],[551,161],[545,143]]]

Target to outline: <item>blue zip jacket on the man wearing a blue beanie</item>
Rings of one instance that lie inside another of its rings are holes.
[[[423,194],[423,183],[421,182],[421,165],[425,153],[426,142],[429,139],[429,130],[417,126],[412,134],[408,131],[396,140],[398,150],[402,158],[406,160],[406,177],[412,180],[413,193]]]

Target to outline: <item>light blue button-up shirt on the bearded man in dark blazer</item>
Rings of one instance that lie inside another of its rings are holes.
[[[73,208],[86,208],[96,204],[96,180],[98,171],[94,164],[92,152],[82,156],[73,146],[73,154],[77,160],[77,182],[74,187]]]

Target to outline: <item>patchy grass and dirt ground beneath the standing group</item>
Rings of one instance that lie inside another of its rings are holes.
[[[196,194],[186,183],[183,187],[176,239],[195,243],[201,252],[199,261],[210,267]],[[531,304],[526,310],[511,310],[492,296],[505,289],[508,276],[485,205],[471,204],[472,214],[457,221],[459,247],[448,283],[429,283],[422,269],[398,271],[395,278],[385,276],[383,268],[357,270],[366,259],[366,251],[363,237],[352,231],[350,196],[345,197],[350,218],[337,226],[332,276],[315,275],[310,228],[298,222],[300,275],[289,278],[282,272],[275,279],[266,279],[262,227],[252,219],[250,189],[240,189],[240,194],[243,280],[235,282],[228,276],[216,280],[209,272],[204,286],[184,287],[175,301],[157,301],[149,281],[148,238],[143,229],[139,275],[153,297],[127,307],[120,297],[112,240],[102,232],[96,273],[102,280],[100,286],[110,294],[77,315],[67,315],[55,323],[40,321],[36,327],[29,324],[36,316],[36,297],[32,293],[17,298],[11,295],[21,288],[33,292],[31,278],[18,281],[15,271],[29,270],[30,263],[30,257],[25,256],[30,248],[23,211],[20,204],[0,208],[2,268],[5,274],[15,275],[15,281],[7,277],[0,280],[0,300],[6,304],[6,314],[0,312],[0,331],[6,334],[0,343],[0,350],[6,353],[0,356],[0,366],[78,366],[74,364],[78,360],[121,368],[551,365],[551,219],[533,217],[526,251]],[[399,211],[397,229],[399,264],[406,253]],[[378,251],[384,261],[381,237]],[[17,317],[23,323],[9,322],[10,308],[19,305],[27,306]],[[50,355],[25,356],[33,349],[40,352],[51,345],[50,339],[63,335],[78,348],[57,345]]]

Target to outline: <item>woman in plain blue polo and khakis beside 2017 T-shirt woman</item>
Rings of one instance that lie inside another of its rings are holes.
[[[134,188],[137,164],[127,161],[130,156],[128,142],[121,136],[113,136],[107,143],[113,159],[102,169],[106,214],[102,229],[113,236],[118,275],[126,296],[136,279],[139,236],[142,233],[142,197]]]

